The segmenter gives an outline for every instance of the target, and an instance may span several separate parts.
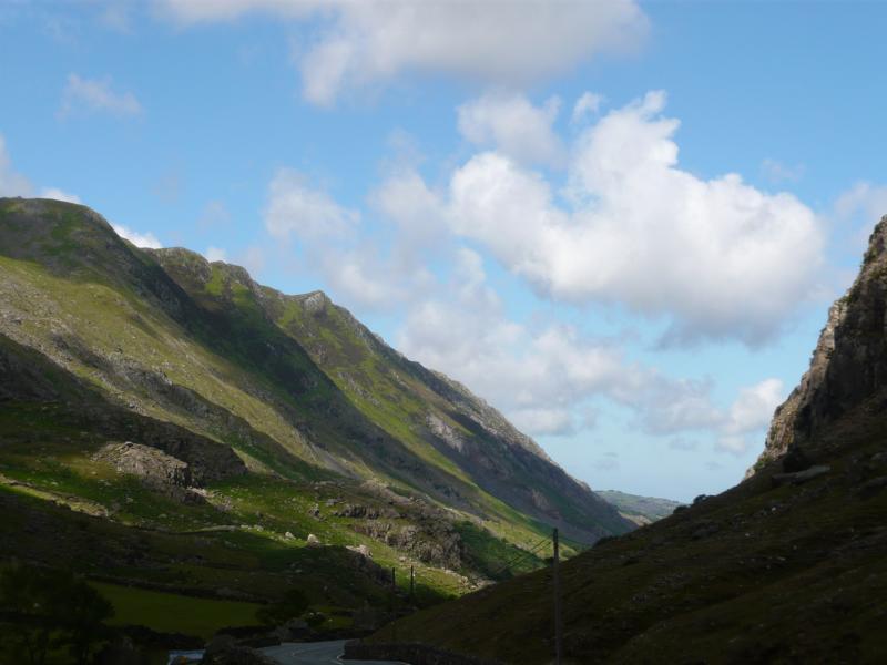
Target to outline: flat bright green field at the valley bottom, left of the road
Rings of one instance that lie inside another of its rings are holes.
[[[114,605],[111,625],[143,625],[160,633],[183,633],[208,640],[226,626],[259,625],[255,603],[216,601],[93,582]]]

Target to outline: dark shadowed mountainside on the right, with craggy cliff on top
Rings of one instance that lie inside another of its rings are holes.
[[[561,566],[564,662],[887,661],[887,217],[810,369],[736,487]],[[540,570],[383,630],[456,653],[551,662]]]

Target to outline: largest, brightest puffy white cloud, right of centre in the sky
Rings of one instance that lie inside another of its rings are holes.
[[[791,194],[682,171],[664,103],[650,93],[579,135],[569,205],[507,155],[475,155],[450,182],[452,227],[554,300],[671,317],[673,342],[766,341],[812,291],[822,224]]]

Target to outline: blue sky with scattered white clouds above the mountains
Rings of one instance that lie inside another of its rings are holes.
[[[0,3],[0,195],[323,289],[593,489],[735,484],[887,214],[883,2]]]

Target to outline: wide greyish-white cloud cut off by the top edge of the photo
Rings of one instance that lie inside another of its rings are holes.
[[[601,52],[636,48],[648,19],[634,0],[157,0],[182,24],[231,21],[249,12],[313,21],[297,53],[305,98],[330,105],[346,89],[404,73],[524,84]]]

